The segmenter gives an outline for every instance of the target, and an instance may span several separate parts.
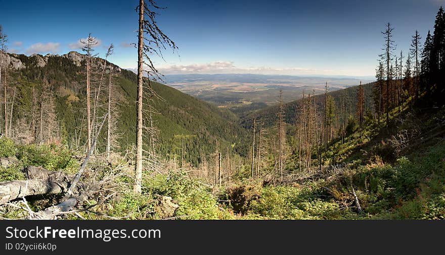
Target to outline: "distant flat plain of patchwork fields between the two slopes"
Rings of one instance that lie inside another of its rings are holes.
[[[370,80],[363,80],[367,83]],[[280,90],[283,101],[290,102],[302,94],[324,93],[359,85],[353,78],[323,78],[249,74],[167,75],[167,85],[189,95],[232,110],[238,115],[278,103]]]

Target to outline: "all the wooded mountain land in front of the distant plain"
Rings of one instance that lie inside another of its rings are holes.
[[[238,117],[163,84],[145,2],[137,73],[92,34],[28,56],[0,27],[2,219],[445,219],[442,8],[407,52],[382,28],[375,82]]]

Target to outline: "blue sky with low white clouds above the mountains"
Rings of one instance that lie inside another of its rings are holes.
[[[122,68],[137,66],[137,0],[0,0],[0,24],[10,52],[63,54],[88,33]],[[178,1],[158,0],[158,25],[179,51],[154,57],[164,74],[255,73],[374,76],[385,24],[397,52],[417,29],[422,42],[445,0]],[[79,51],[79,50],[78,50]]]

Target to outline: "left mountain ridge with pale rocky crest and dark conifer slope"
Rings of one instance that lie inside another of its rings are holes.
[[[20,101],[20,105],[15,106],[12,124],[16,126],[19,122],[31,123],[32,95],[40,95],[43,91],[43,84],[47,82],[53,94],[57,121],[60,124],[60,131],[55,131],[54,136],[60,136],[60,142],[70,146],[72,146],[73,140],[80,140],[77,144],[82,145],[85,142],[83,134],[85,129],[81,129],[83,125],[81,116],[83,116],[85,108],[85,55],[76,51],[70,51],[63,55],[47,54],[45,56],[8,53],[0,55],[0,60],[9,65],[12,64],[10,67],[14,69],[13,72],[10,72],[8,80],[10,91],[8,93],[12,95],[12,87],[18,88],[16,100]],[[101,70],[104,63],[105,60],[102,58],[93,58],[95,70]],[[136,100],[137,76],[109,61],[106,63],[116,71],[113,71],[113,85],[119,94],[116,102],[117,112],[119,112],[117,127],[120,137],[118,143],[121,144],[119,150],[123,152],[136,141],[136,132],[133,130],[136,129],[134,101]],[[211,155],[218,149],[243,153],[242,143],[247,137],[247,133],[239,125],[239,119],[233,113],[226,109],[219,109],[169,86],[157,82],[151,84],[165,100],[156,102],[156,110],[159,114],[154,114],[154,120],[158,124],[159,130],[157,147],[159,155],[168,155],[170,158],[179,157],[181,149],[177,147],[181,143],[186,148],[183,152],[185,161],[193,165],[197,165],[202,157]],[[92,94],[94,94],[97,85],[97,81],[92,85]],[[108,87],[108,78],[107,83],[103,86]],[[33,90],[35,91],[32,92]],[[101,93],[105,93],[104,90],[101,90]],[[100,95],[100,109],[98,108],[97,115],[103,116],[105,109],[102,106],[105,105],[106,98],[105,94]],[[8,100],[8,105],[10,105],[12,99],[8,97]],[[4,126],[3,122],[2,126]],[[30,130],[21,132],[23,133],[21,137],[26,137],[28,140],[31,139],[30,136],[33,136]],[[82,134],[80,139],[78,138],[79,133]],[[104,134],[106,134],[106,130],[99,137],[99,152],[104,150],[106,139]]]

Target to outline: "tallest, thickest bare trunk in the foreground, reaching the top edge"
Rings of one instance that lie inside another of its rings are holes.
[[[137,98],[137,122],[136,122],[136,177],[133,192],[141,193],[142,182],[142,96],[143,96],[143,47],[144,47],[144,0],[139,0],[139,31],[138,31],[138,98]]]

